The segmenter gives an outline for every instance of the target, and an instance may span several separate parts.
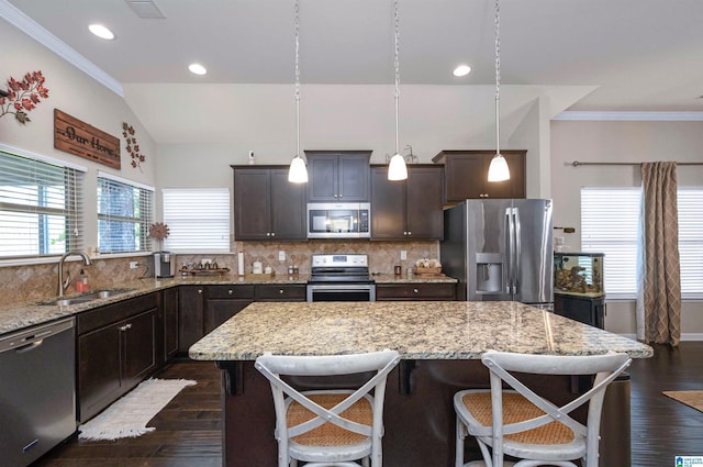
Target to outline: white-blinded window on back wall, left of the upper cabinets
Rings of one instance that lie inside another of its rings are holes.
[[[230,190],[227,188],[164,189],[164,223],[170,252],[230,252]]]

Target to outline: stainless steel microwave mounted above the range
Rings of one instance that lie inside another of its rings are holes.
[[[308,238],[368,238],[370,214],[368,202],[308,203]]]

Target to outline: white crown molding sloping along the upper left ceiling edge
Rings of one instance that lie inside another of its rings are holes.
[[[80,55],[54,34],[46,31],[16,7],[8,2],[8,0],[0,0],[0,16],[115,94],[124,98],[124,89],[120,81],[97,67],[92,62]]]

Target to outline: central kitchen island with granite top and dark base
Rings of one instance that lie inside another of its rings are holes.
[[[398,351],[403,359],[389,376],[386,394],[387,467],[454,465],[453,396],[488,387],[480,363],[488,349],[652,355],[647,345],[517,302],[256,302],[189,352],[223,370],[223,466],[276,466],[270,388],[254,368],[259,355],[383,348]],[[568,377],[538,382],[559,399],[573,398]]]

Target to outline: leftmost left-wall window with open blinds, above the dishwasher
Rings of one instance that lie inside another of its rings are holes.
[[[81,249],[86,168],[0,145],[0,259]]]

